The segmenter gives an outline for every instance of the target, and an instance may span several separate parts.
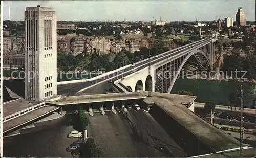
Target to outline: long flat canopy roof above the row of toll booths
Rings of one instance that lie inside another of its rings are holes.
[[[72,97],[66,97],[51,103],[56,105],[70,105],[70,104],[78,104],[78,103],[80,104],[96,103],[96,102],[108,102],[108,101],[130,100],[130,99],[144,99],[144,98],[146,98],[146,96],[140,92],[127,92],[127,93],[72,96]]]

